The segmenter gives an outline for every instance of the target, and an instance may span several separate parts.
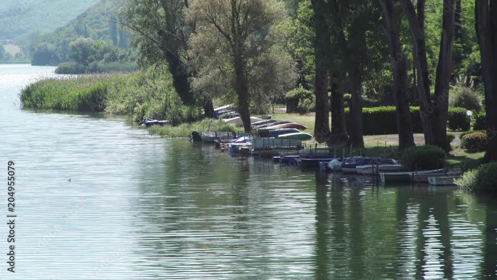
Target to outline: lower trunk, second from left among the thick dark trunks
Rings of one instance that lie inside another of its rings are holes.
[[[347,141],[347,129],[345,127],[345,108],[342,92],[342,74],[333,73],[331,76],[331,138],[341,142]]]

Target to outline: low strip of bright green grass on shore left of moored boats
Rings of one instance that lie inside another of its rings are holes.
[[[222,120],[203,119],[196,122],[181,123],[176,126],[152,126],[150,127],[150,134],[160,135],[170,138],[188,138],[192,131],[202,133],[204,131],[237,131],[233,124],[226,123]]]

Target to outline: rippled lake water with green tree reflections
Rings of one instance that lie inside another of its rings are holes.
[[[20,89],[53,71],[0,65],[0,178],[14,161],[17,215],[12,274],[2,187],[0,279],[496,279],[493,197],[374,187],[119,117],[21,109]]]

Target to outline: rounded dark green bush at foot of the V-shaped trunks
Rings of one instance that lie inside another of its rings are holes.
[[[401,158],[409,171],[433,170],[443,168],[446,154],[436,146],[416,146],[402,151]]]

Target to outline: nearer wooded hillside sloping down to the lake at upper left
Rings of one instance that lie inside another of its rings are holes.
[[[78,38],[112,42],[106,14],[116,12],[121,0],[99,0],[68,24],[44,34],[31,46],[33,65],[58,65],[70,61],[69,44]]]

